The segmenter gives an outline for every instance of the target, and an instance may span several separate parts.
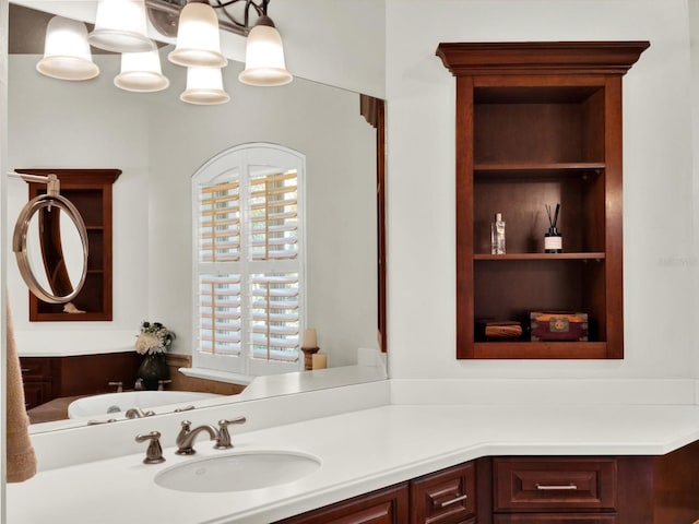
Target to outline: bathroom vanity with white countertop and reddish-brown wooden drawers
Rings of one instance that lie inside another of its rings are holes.
[[[678,389],[690,386],[683,382]],[[7,486],[8,522],[60,516],[59,522],[103,524],[691,524],[699,519],[694,475],[699,406],[691,395],[665,405],[656,393],[654,405],[624,402],[624,395],[616,404],[590,398],[443,405],[431,397],[433,404],[417,405],[396,388],[384,381],[189,412],[193,426],[224,417],[248,420],[232,431],[233,450],[214,450],[202,437],[194,456],[175,454],[178,414],[35,434],[44,469]],[[145,446],[134,437],[153,430],[163,436],[166,461],[146,465]],[[70,463],[66,450],[74,455]],[[191,461],[270,452],[312,456],[320,467],[286,484],[221,492],[197,491],[197,480],[185,490],[156,483],[163,472]],[[75,492],[91,503],[76,505]],[[39,496],[43,504],[33,504]]]

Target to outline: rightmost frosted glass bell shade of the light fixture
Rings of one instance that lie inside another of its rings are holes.
[[[260,16],[248,35],[245,70],[238,80],[257,86],[284,85],[294,80],[286,70],[282,37],[269,16]]]

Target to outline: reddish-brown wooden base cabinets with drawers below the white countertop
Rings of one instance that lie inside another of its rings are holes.
[[[699,441],[663,456],[483,457],[281,523],[694,524],[697,464]]]

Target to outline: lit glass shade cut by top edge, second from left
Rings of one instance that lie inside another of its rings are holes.
[[[99,0],[90,44],[115,52],[153,49],[145,22],[144,0]]]

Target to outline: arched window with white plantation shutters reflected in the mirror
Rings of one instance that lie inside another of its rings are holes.
[[[304,167],[292,150],[248,144],[194,174],[196,367],[303,369]]]

